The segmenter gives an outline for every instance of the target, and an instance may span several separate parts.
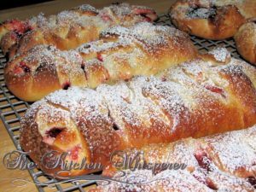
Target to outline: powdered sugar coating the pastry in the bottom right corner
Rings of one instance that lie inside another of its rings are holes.
[[[185,160],[185,163],[187,164],[187,169],[167,169],[157,173],[156,175],[154,175],[151,170],[137,169],[133,172],[125,170],[123,171],[125,173],[125,176],[123,177],[118,177],[119,172],[116,172],[113,178],[116,178],[117,182],[111,182],[104,186],[100,184],[100,186],[97,187],[97,191],[149,191],[152,189],[160,191],[253,191],[253,185],[248,183],[247,179],[244,178],[253,174],[249,169],[243,170],[243,176],[241,176],[235,172],[230,172],[230,170],[225,169],[225,161],[223,161],[222,158],[218,158],[224,154],[229,154],[229,161],[226,162],[228,163],[227,165],[236,166],[237,158],[241,160],[240,158],[247,158],[249,155],[253,160],[256,160],[256,154],[252,154],[252,149],[248,148],[248,145],[245,143],[246,139],[238,141],[240,138],[248,136],[254,138],[256,136],[255,133],[256,126],[253,126],[247,130],[233,131],[220,134],[215,137],[205,137],[198,140],[189,138],[183,140],[183,142],[170,143],[166,145],[152,145],[151,147],[142,148],[141,151],[144,152],[143,154],[147,162],[153,164],[180,162],[179,160],[181,159],[179,158],[183,158],[182,160]],[[207,150],[207,146],[210,147],[212,144],[216,147],[213,148],[213,153]],[[225,150],[225,148],[236,149],[236,147],[240,145],[245,148],[243,150],[234,151]],[[178,150],[179,148],[182,150]],[[216,153],[216,150],[218,153]],[[165,155],[165,158],[163,159],[158,159],[155,154],[161,154],[162,151],[164,151],[165,154],[169,153],[169,155]],[[187,153],[188,151],[189,153]],[[137,153],[137,151],[135,151],[135,153]],[[197,155],[198,161],[195,159],[195,154]],[[155,156],[156,159],[151,159],[152,156]],[[175,159],[175,157],[178,158]],[[201,159],[201,157],[203,158]],[[249,162],[250,163],[246,160],[242,162],[240,161],[239,168],[243,169],[247,166],[253,168],[254,162]]]

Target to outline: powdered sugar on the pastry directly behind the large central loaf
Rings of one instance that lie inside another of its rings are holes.
[[[61,15],[67,16],[66,12],[61,12]],[[131,27],[113,26],[102,32],[101,40],[83,44],[76,50],[61,51],[54,46],[38,45],[26,55],[17,55],[9,63],[7,70],[19,67],[21,58],[33,77],[47,70],[56,76],[55,79],[59,79],[61,86],[86,86],[94,82],[96,77],[86,79],[86,76],[93,76],[90,73],[94,71],[89,67],[96,67],[98,64],[106,72],[105,77],[110,76],[106,81],[131,79],[139,74],[156,73],[160,70],[155,67],[158,63],[169,62],[168,65],[172,65],[172,61],[166,59],[168,56],[176,64],[175,57],[182,53],[176,53],[174,49],[194,49],[187,41],[189,39],[183,32],[178,32],[170,26],[154,26],[146,22]],[[169,54],[170,52],[172,54]],[[165,53],[168,55],[161,56]],[[145,65],[145,62],[148,62],[148,54],[154,55],[153,61]],[[193,51],[188,56],[193,57]],[[168,65],[163,64],[166,67]]]

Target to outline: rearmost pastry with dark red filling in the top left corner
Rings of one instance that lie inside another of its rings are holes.
[[[55,25],[59,25],[63,28],[65,25],[67,26],[68,22],[69,24],[71,24],[71,22],[77,22],[75,19],[84,18],[83,16],[94,16],[96,14],[97,10],[95,8],[84,4],[73,9],[62,11],[58,15],[50,15],[49,17],[45,17],[44,14],[39,14],[28,20],[6,20],[0,25],[0,47],[3,49],[4,55],[11,51],[9,56],[13,57],[15,55],[15,49],[19,46],[18,42],[20,38],[28,35],[31,31],[41,32]]]

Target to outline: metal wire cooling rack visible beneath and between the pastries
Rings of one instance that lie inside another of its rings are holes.
[[[168,15],[161,15],[160,19],[157,20],[156,25],[172,26],[170,18]],[[229,49],[232,56],[241,59],[236,51],[236,45],[232,38],[226,39],[224,41],[212,41],[203,38],[196,38],[191,36],[191,40],[195,44],[196,48],[201,52],[207,52],[216,46],[223,46]],[[7,89],[4,79],[3,79],[3,67],[6,64],[6,59],[3,56],[2,50],[0,52],[0,116],[3,121],[3,125],[9,132],[9,136],[15,143],[17,149],[20,148],[20,117],[26,112],[26,108],[30,106],[31,103],[20,101],[20,99],[13,96]],[[34,182],[49,182],[52,178],[45,177],[44,173],[38,169],[33,169],[28,171]],[[75,182],[75,183],[61,183],[55,184],[51,187],[47,186],[37,186],[38,191],[48,192],[48,191],[87,191],[89,188],[93,187],[95,182]]]

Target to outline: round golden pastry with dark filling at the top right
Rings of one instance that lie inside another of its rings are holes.
[[[169,11],[178,29],[201,38],[231,38],[248,19],[256,16],[254,0],[179,0]]]

